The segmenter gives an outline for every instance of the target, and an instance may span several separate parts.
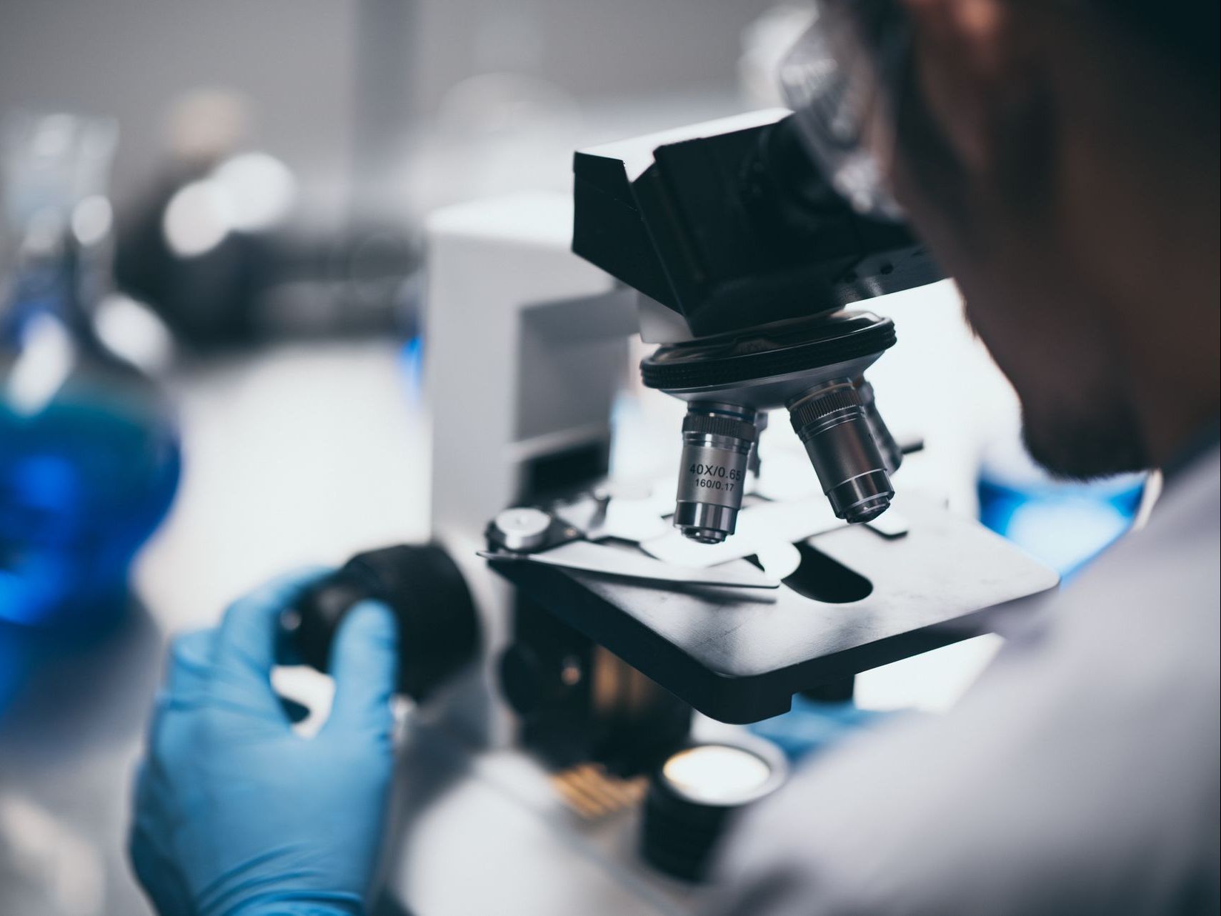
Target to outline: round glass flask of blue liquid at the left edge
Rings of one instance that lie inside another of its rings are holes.
[[[0,623],[105,628],[177,489],[160,387],[94,329],[110,292],[110,122],[11,118],[0,266]]]

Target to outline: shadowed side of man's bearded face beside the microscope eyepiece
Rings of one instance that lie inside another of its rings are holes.
[[[1056,164],[1043,159],[1055,142],[1032,137],[1038,104],[998,92],[994,107],[972,111],[965,99],[980,90],[961,92],[965,72],[941,56],[951,53],[917,38],[895,194],[1016,388],[1032,457],[1072,478],[1148,467],[1106,303],[1073,263]],[[979,132],[996,142],[977,144]]]

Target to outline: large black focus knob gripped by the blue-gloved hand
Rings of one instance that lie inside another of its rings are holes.
[[[393,611],[399,631],[398,692],[422,701],[479,651],[479,620],[462,570],[436,543],[359,553],[297,606],[298,651],[326,671],[341,620],[366,598]]]

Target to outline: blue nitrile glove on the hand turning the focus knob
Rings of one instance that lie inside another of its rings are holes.
[[[396,625],[363,602],[331,650],[314,738],[271,689],[281,612],[325,573],[234,602],[178,638],[140,767],[131,856],[161,916],[364,914],[391,783]]]

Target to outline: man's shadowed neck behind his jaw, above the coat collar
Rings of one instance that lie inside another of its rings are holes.
[[[1221,405],[1216,105],[1160,60],[1110,53],[1066,65],[1065,104],[1089,117],[1065,160],[1065,231],[1072,278],[1105,309],[1116,385],[1162,467]]]

